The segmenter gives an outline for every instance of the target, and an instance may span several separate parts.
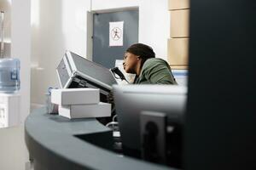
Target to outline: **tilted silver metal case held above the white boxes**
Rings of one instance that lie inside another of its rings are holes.
[[[70,51],[63,56],[56,71],[61,88],[99,88],[103,102],[112,90],[112,85],[117,84],[108,68]]]

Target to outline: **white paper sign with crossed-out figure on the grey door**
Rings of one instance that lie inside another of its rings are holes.
[[[109,46],[123,46],[124,21],[109,22]]]

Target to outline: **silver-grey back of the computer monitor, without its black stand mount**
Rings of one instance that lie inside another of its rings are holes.
[[[140,114],[165,113],[167,124],[183,125],[187,88],[177,85],[114,85],[113,98],[125,149],[140,151]]]

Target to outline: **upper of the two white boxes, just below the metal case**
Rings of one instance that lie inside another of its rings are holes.
[[[62,88],[51,90],[51,103],[57,105],[84,105],[100,102],[100,90],[96,88]]]

